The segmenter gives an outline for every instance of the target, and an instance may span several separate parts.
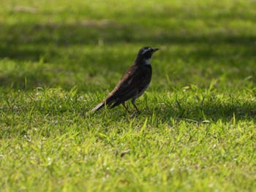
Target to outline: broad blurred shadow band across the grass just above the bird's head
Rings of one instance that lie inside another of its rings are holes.
[[[161,30],[143,28],[117,23],[78,23],[78,24],[23,24],[15,26],[0,25],[2,30],[0,43],[0,58],[11,58],[23,61],[38,61],[40,55],[58,56],[56,50],[50,48],[69,47],[71,45],[98,45],[103,40],[108,45],[116,43],[140,43],[143,45],[187,45],[206,44],[228,45],[234,50],[244,46],[242,56],[255,57],[256,37],[217,32],[211,35],[198,35],[189,32],[173,31],[167,28]],[[196,46],[196,45],[195,45]],[[221,54],[221,53],[219,53]],[[215,55],[208,50],[193,53],[197,58],[210,58]]]

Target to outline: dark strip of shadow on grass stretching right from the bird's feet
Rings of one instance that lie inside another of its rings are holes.
[[[153,109],[143,110],[142,115],[154,115],[162,122],[170,122],[170,120],[175,119],[195,123],[217,123],[219,120],[222,122],[249,120],[256,123],[256,102],[247,104],[208,102],[203,106],[192,104],[186,107],[173,107],[162,104],[157,105]]]

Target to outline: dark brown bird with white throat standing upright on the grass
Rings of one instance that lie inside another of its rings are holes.
[[[119,104],[122,104],[124,109],[128,111],[127,106],[124,103],[125,101],[132,99],[132,105],[135,107],[138,114],[140,114],[140,110],[138,110],[135,100],[146,91],[151,82],[151,56],[157,50],[159,49],[142,47],[138,52],[135,62],[129,67],[127,72],[124,73],[113,91],[111,91],[101,103],[94,107],[91,112],[100,110],[105,106],[112,109]]]

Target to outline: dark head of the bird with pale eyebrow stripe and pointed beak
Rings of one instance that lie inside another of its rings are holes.
[[[159,49],[152,47],[142,47],[137,55],[135,64],[150,64],[151,56],[157,50]]]

